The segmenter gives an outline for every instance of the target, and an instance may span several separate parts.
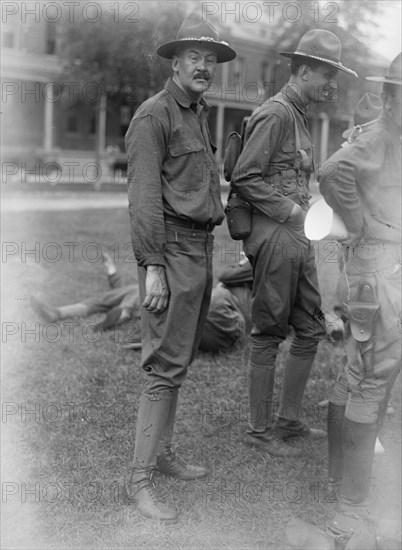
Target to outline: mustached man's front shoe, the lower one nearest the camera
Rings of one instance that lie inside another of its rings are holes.
[[[164,523],[176,523],[177,511],[166,504],[157,493],[153,481],[153,470],[134,468],[129,482],[126,484],[127,499],[137,505],[139,513],[147,519],[154,519]]]

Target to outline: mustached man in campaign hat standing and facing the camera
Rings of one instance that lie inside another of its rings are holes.
[[[158,54],[173,77],[135,113],[126,135],[132,245],[141,297],[142,368],[133,469],[127,493],[139,512],[177,521],[154,471],[182,480],[208,476],[171,449],[179,388],[198,348],[212,290],[212,231],[222,223],[219,170],[202,98],[217,63],[234,50],[190,15]]]

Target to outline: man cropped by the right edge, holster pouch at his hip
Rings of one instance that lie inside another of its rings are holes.
[[[349,231],[342,270],[347,364],[328,406],[329,476],[340,487],[329,524],[336,535],[369,525],[375,442],[401,366],[401,54],[385,76],[368,79],[383,82],[382,114],[318,174],[321,193]]]

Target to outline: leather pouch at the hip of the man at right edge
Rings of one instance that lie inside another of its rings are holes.
[[[356,299],[347,302],[350,330],[357,342],[367,342],[373,335],[375,320],[380,309],[373,286],[367,281],[359,284]]]

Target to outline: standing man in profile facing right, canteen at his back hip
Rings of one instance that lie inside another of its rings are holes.
[[[338,37],[323,29],[304,34],[294,52],[281,52],[291,58],[290,79],[251,115],[231,179],[252,207],[244,241],[254,272],[246,442],[275,456],[300,455],[286,443],[291,437],[326,437],[301,420],[304,389],[325,335],[314,250],[303,232],[313,171],[306,107],[335,100],[338,71],[357,76],[342,64],[341,53]],[[294,338],[274,422],[275,363],[289,325]]]

